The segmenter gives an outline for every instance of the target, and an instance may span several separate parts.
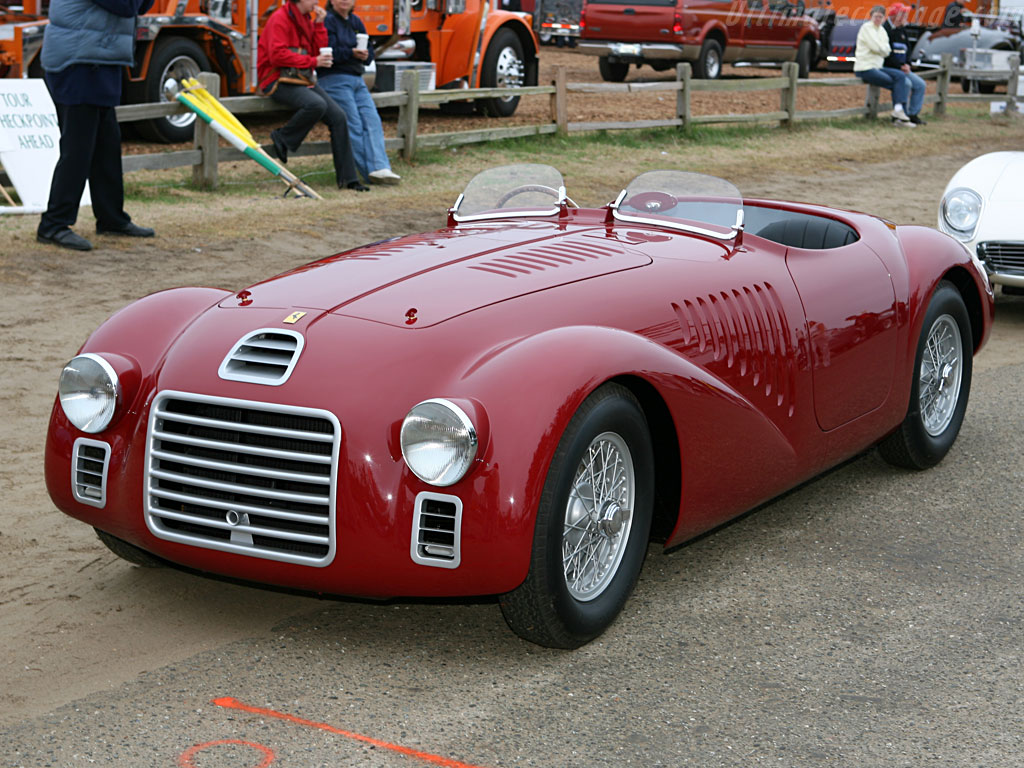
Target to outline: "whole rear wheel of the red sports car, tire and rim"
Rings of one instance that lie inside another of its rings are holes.
[[[943,281],[922,326],[906,418],[879,444],[883,459],[907,469],[928,469],[942,461],[964,423],[972,355],[967,306],[953,285]]]

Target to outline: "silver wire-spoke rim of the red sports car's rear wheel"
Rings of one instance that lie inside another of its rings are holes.
[[[950,315],[943,314],[928,332],[918,373],[921,420],[933,437],[942,434],[956,411],[963,362],[959,328]]]

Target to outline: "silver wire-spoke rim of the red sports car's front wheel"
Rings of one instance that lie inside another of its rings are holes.
[[[577,467],[565,507],[562,568],[577,600],[595,599],[618,570],[633,524],[636,473],[626,441],[604,432]]]

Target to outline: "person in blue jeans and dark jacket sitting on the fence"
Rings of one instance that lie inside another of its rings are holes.
[[[374,60],[374,48],[362,19],[352,12],[354,7],[355,0],[330,0],[324,25],[334,63],[316,74],[321,86],[348,118],[348,136],[359,173],[370,181],[397,184],[401,176],[391,170],[377,105],[362,80],[366,65]],[[356,36],[367,42],[359,46]]]

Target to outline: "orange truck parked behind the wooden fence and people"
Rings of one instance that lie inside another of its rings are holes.
[[[0,0],[0,77],[42,77],[39,51],[49,2],[22,0],[18,6],[16,1]],[[173,98],[176,81],[198,72],[220,75],[221,95],[254,92],[259,30],[282,2],[287,0],[157,0],[139,17],[124,102]],[[378,52],[403,41],[395,50],[407,51],[420,66],[433,65],[437,87],[537,84],[538,44],[529,16],[500,10],[496,0],[366,0],[355,12]],[[518,100],[492,98],[476,105],[508,116]],[[154,140],[185,141],[194,120],[191,114],[175,115],[136,126]]]

